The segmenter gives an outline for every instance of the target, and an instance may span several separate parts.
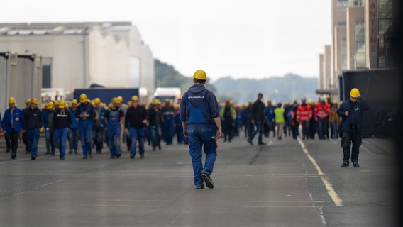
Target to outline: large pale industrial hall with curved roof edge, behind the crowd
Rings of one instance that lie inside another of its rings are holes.
[[[155,89],[153,54],[129,21],[0,23],[0,52],[40,56],[42,88],[62,96],[91,84]]]

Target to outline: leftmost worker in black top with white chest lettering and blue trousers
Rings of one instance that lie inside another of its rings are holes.
[[[72,124],[72,117],[67,111],[65,101],[59,102],[59,108],[55,110],[53,115],[53,126],[55,128],[55,145],[60,150],[60,159],[64,160],[66,155],[66,142],[68,128]]]

